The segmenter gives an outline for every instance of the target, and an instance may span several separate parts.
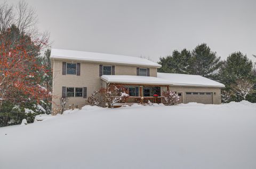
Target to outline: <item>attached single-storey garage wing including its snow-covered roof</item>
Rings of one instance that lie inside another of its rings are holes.
[[[178,93],[179,103],[221,103],[220,91],[225,85],[219,82],[199,75],[157,73],[157,77],[170,81],[169,88]]]

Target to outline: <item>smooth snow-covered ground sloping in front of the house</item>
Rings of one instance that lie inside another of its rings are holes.
[[[84,107],[0,128],[0,168],[256,168],[256,104]]]

